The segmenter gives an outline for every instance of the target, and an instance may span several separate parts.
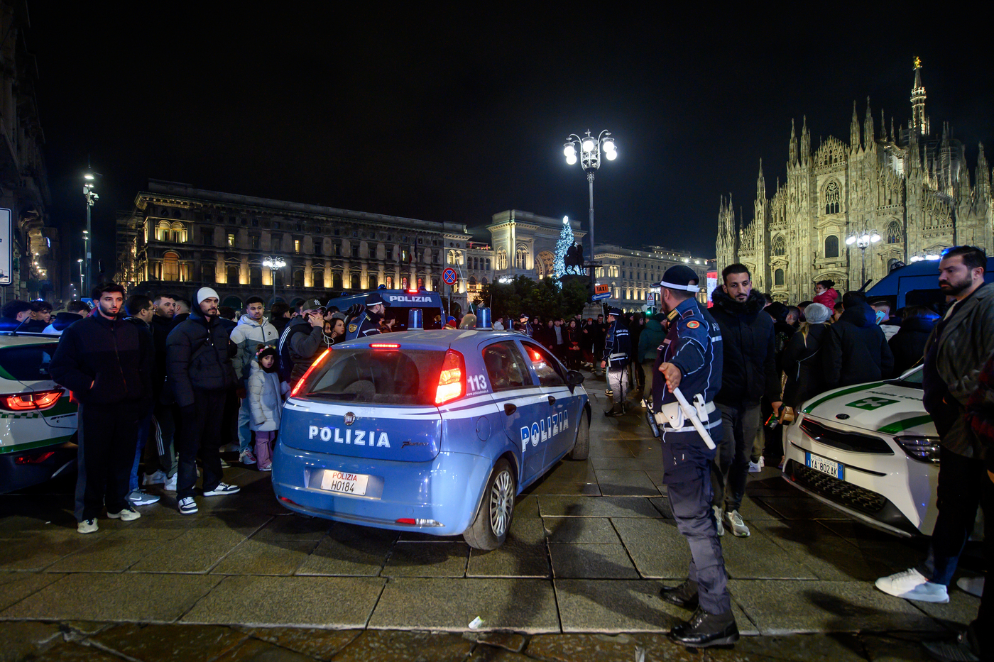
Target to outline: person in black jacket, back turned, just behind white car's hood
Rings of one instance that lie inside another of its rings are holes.
[[[894,354],[877,326],[877,313],[857,291],[846,292],[842,305],[842,316],[822,341],[825,388],[888,379],[894,370]]]

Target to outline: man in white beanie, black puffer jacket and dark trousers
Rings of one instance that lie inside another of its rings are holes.
[[[201,287],[194,297],[190,317],[166,338],[166,372],[180,409],[180,456],[176,498],[183,515],[197,512],[197,451],[202,448],[204,496],[234,494],[239,487],[221,482],[222,412],[227,391],[235,387],[235,368],[228,330],[218,319],[218,293]]]

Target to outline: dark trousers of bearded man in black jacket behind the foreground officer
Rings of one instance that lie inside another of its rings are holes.
[[[714,505],[732,512],[739,510],[745,495],[748,457],[759,431],[759,406],[719,405],[718,409],[722,413],[722,440],[711,470]]]

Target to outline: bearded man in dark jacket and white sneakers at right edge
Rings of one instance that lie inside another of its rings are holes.
[[[955,299],[925,345],[921,379],[922,402],[940,438],[935,490],[938,516],[924,562],[903,573],[877,579],[876,584],[884,592],[905,599],[949,601],[947,586],[973,530],[977,505],[985,490],[990,502],[985,440],[977,436],[966,415],[966,405],[977,390],[982,368],[994,355],[994,287],[984,283],[986,265],[984,250],[969,246],[946,249],[938,264],[939,288]],[[991,513],[985,515],[989,522]],[[981,597],[981,614],[990,609],[990,591],[988,581]],[[990,655],[990,650],[985,650],[989,627],[989,617],[986,621],[978,618],[960,641],[980,659],[990,659],[985,657]]]

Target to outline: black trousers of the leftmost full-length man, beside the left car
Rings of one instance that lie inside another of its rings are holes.
[[[92,520],[104,503],[108,513],[127,506],[128,475],[134,464],[141,418],[138,403],[80,404],[76,519]]]

